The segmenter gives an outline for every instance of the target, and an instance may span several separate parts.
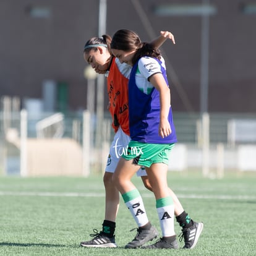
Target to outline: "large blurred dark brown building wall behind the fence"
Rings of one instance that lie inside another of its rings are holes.
[[[83,45],[98,35],[98,11],[99,0],[1,0],[0,95],[42,98],[54,80],[57,110],[84,109]],[[176,45],[161,47],[174,111],[200,111],[207,96],[210,112],[256,111],[256,1],[107,0],[107,11],[109,35],[174,33]]]

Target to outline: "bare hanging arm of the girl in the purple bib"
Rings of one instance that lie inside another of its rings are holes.
[[[171,93],[163,78],[163,75],[156,73],[150,77],[150,83],[160,93],[160,124],[158,134],[164,138],[171,134],[171,125],[168,121],[168,114],[171,104]]]

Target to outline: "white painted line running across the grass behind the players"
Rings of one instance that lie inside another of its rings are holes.
[[[14,196],[36,196],[36,197],[105,197],[104,193],[76,193],[76,192],[12,192],[0,191],[0,195]],[[153,197],[153,194],[143,194],[142,197]],[[178,194],[179,198],[197,198],[197,199],[220,199],[220,200],[256,200],[256,197],[250,195],[193,195]]]

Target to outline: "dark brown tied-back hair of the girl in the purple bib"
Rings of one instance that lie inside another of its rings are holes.
[[[114,33],[111,41],[111,49],[119,49],[122,51],[135,51],[132,58],[134,65],[143,56],[150,56],[160,59],[160,51],[153,48],[150,43],[142,43],[139,35],[132,30],[121,29]]]

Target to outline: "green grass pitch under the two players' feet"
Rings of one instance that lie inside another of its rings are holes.
[[[0,255],[256,255],[256,174],[229,173],[206,179],[199,173],[169,173],[169,186],[203,233],[192,250],[124,249],[136,224],[122,202],[114,249],[80,247],[105,211],[102,177],[0,177]],[[153,194],[134,177],[148,218],[160,231]],[[181,231],[175,224],[176,234]],[[179,242],[181,247],[183,242]]]

